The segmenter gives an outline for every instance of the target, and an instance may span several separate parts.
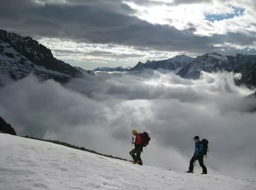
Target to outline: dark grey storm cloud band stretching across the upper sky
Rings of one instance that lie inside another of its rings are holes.
[[[180,31],[169,25],[153,25],[128,15],[134,10],[120,1],[69,1],[69,4],[48,1],[45,6],[24,1],[19,9],[15,5],[19,6],[20,1],[15,2],[12,0],[0,7],[0,24],[3,29],[26,36],[198,53],[221,53],[221,47],[212,45],[223,41],[248,46],[256,41],[256,37],[243,33],[200,37],[193,34],[196,30],[193,26]]]

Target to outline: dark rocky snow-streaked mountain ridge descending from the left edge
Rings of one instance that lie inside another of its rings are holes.
[[[33,73],[40,80],[54,79],[67,82],[84,73],[56,59],[51,50],[31,37],[0,30],[0,74],[19,80]],[[88,71],[88,74],[94,74]],[[0,86],[2,82],[0,81]]]

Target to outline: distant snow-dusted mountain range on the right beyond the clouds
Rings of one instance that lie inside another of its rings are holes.
[[[248,87],[256,87],[256,55],[237,53],[235,55],[221,55],[218,53],[207,53],[196,58],[187,55],[177,55],[173,58],[150,61],[141,61],[132,68],[129,67],[101,67],[93,71],[143,71],[144,69],[166,69],[174,71],[175,74],[190,79],[198,79],[200,72],[228,71],[242,73],[242,78],[236,84],[246,84]]]

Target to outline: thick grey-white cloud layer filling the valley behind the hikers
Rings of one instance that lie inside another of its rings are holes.
[[[144,164],[188,169],[198,135],[209,140],[209,173],[255,179],[253,91],[231,73],[200,80],[173,73],[101,73],[65,86],[29,76],[0,90],[0,115],[18,135],[65,141],[130,159],[131,131],[149,132]],[[199,172],[198,163],[196,170]]]

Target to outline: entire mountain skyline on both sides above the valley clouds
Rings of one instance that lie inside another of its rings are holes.
[[[15,33],[0,30],[0,74],[6,74],[13,80],[19,80],[33,73],[40,80],[54,79],[58,82],[68,82],[75,77],[86,74],[95,75],[94,72],[123,72],[142,71],[144,69],[166,69],[174,71],[183,78],[197,79],[200,71],[234,71],[242,73],[237,83],[256,86],[256,55],[241,54],[221,55],[207,53],[196,58],[187,55],[177,55],[173,58],[138,62],[135,67],[99,67],[84,70],[73,67],[56,59],[51,50],[38,44],[31,37],[22,37]],[[1,80],[1,76],[0,76]],[[0,87],[4,83],[0,81]]]

